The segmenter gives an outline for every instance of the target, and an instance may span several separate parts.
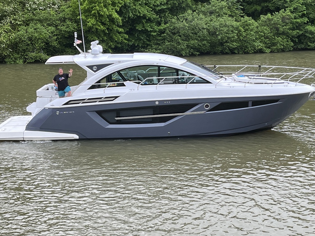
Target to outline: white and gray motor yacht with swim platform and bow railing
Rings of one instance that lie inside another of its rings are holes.
[[[271,129],[315,93],[302,83],[313,77],[311,68],[110,54],[98,41],[87,53],[54,56],[45,64],[77,64],[87,76],[71,87],[71,97],[58,98],[54,84],[43,85],[26,108],[31,115],[0,124],[0,140],[228,136]]]

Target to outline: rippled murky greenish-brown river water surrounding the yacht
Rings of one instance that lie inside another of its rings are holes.
[[[187,59],[313,68],[315,51]],[[0,68],[2,122],[29,115],[59,66]],[[314,235],[314,116],[309,100],[272,130],[223,138],[0,142],[0,235]]]

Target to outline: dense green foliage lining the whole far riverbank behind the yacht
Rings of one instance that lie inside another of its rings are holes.
[[[86,50],[173,55],[315,49],[313,0],[81,0]],[[0,62],[77,53],[78,0],[2,0]],[[82,46],[81,46],[82,47]]]

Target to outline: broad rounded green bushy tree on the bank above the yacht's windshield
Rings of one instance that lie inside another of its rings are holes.
[[[146,51],[191,55],[199,53],[253,53],[257,23],[243,16],[239,5],[230,1],[198,4],[159,27],[159,35]]]

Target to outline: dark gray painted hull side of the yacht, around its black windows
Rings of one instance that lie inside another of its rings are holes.
[[[222,102],[279,99],[278,103],[203,114],[179,115],[165,123],[109,124],[96,111],[154,106],[156,100],[98,104],[41,110],[26,130],[73,133],[79,138],[166,138],[181,136],[228,136],[242,132],[270,129],[284,121],[307,100],[309,93],[252,98],[198,98],[158,101],[163,104],[199,104],[188,112],[205,111]],[[249,103],[251,104],[251,102]]]

